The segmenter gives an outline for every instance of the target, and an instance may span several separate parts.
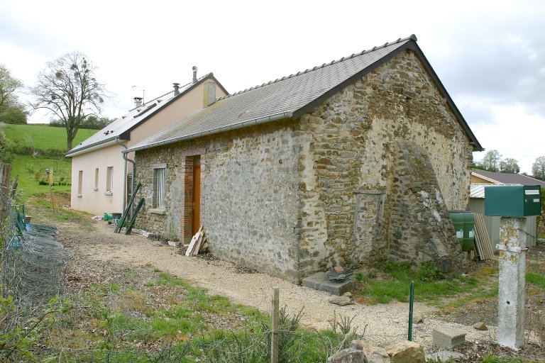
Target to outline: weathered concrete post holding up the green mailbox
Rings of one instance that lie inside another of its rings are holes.
[[[524,345],[524,278],[526,275],[526,218],[500,218],[500,290],[497,342],[519,349]]]

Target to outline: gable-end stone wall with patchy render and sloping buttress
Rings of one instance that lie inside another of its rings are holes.
[[[301,276],[334,264],[357,266],[383,259],[413,264],[435,259],[445,267],[431,252],[441,248],[456,251],[451,265],[458,266],[462,252],[448,236],[451,225],[445,213],[466,208],[472,147],[412,51],[400,53],[302,116],[300,129]],[[426,158],[422,165],[431,173],[404,170],[416,164],[397,162],[403,154],[396,152],[400,145],[421,147],[420,156]],[[429,224],[434,214],[428,207],[425,216],[410,213],[428,203],[411,186],[404,191],[407,198],[392,197],[406,175],[422,191],[436,191],[431,197],[441,222]],[[447,235],[438,230],[444,226]],[[398,230],[425,233],[417,238]],[[430,238],[436,247],[430,245],[427,255],[417,253]]]

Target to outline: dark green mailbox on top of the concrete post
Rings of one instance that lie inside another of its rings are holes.
[[[485,215],[527,217],[541,214],[539,185],[485,186]]]

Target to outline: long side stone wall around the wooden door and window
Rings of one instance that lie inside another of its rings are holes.
[[[136,178],[143,182],[146,198],[137,228],[187,241],[190,236],[180,228],[184,196],[191,192],[184,181],[184,160],[191,150],[202,150],[201,220],[211,252],[242,266],[295,279],[300,148],[296,125],[280,121],[137,152]],[[151,165],[160,162],[167,163],[164,215],[149,209]]]

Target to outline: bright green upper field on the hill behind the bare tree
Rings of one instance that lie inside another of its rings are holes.
[[[80,129],[72,145],[77,145],[89,138],[98,130]],[[46,124],[40,125],[6,125],[6,137],[13,140],[16,151],[22,152],[34,149],[43,152],[65,152],[66,130],[53,128]]]

